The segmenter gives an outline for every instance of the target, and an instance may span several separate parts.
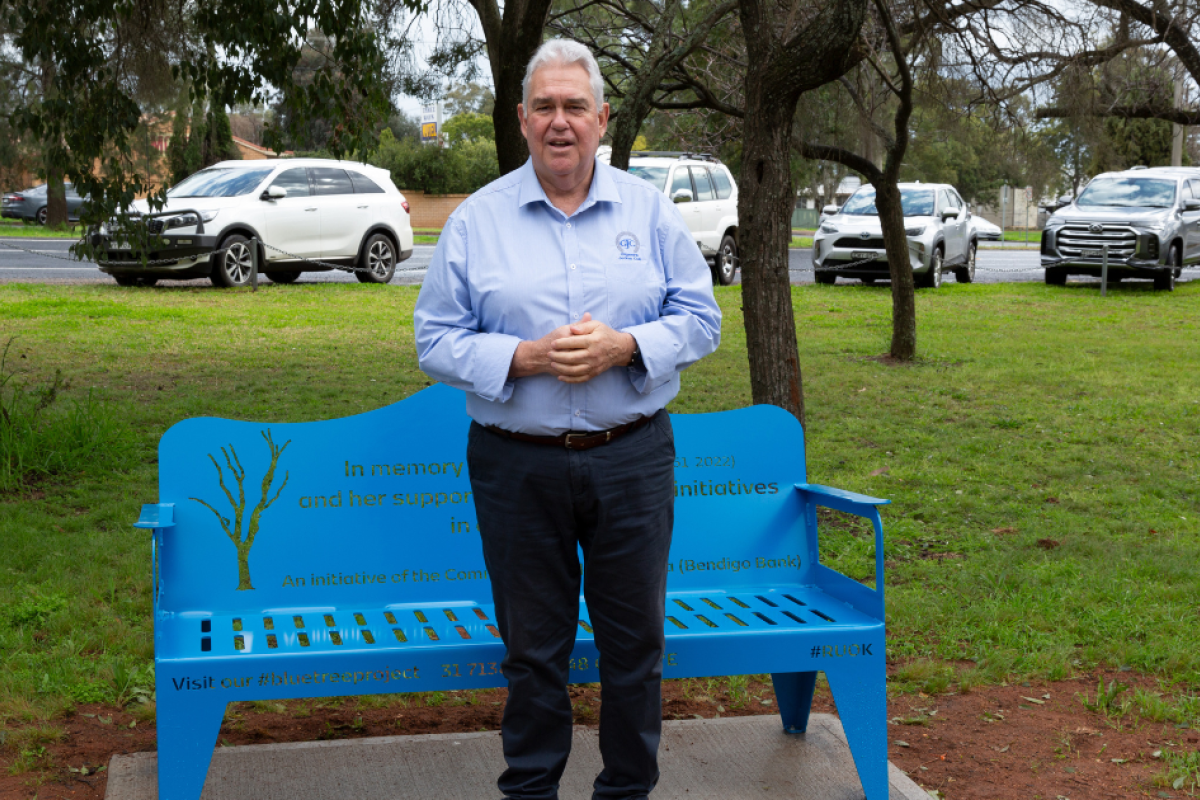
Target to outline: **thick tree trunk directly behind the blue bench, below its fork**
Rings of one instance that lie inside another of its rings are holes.
[[[746,31],[749,36],[749,30]],[[751,55],[750,64],[756,64]],[[755,403],[785,408],[804,425],[804,389],[788,279],[792,239],[792,116],[799,92],[775,94],[751,67],[746,73],[742,175],[738,184],[738,248],[742,302]]]

